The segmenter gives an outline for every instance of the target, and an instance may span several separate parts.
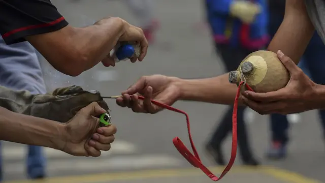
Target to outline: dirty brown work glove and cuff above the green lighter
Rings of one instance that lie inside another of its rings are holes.
[[[99,92],[87,92],[80,86],[57,88],[52,93],[32,95],[26,90],[14,91],[0,86],[0,106],[13,112],[66,123],[81,108],[97,102],[109,110]]]

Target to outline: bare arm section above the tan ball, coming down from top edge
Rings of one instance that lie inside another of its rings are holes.
[[[268,50],[275,53],[281,50],[298,64],[313,33],[314,26],[309,19],[304,1],[287,0],[284,19]]]

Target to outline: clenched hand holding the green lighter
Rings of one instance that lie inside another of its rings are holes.
[[[62,151],[73,156],[99,157],[101,150],[109,150],[114,141],[116,127],[99,127],[99,116],[106,110],[93,102],[82,108],[65,124],[66,144]]]

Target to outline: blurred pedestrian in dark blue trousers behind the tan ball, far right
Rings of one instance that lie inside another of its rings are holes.
[[[269,1],[270,26],[269,33],[273,37],[281,25],[284,17],[285,1]],[[299,63],[299,67],[317,84],[325,84],[325,45],[317,33],[314,33]],[[320,121],[325,128],[325,111],[318,110]],[[270,159],[282,159],[286,157],[287,143],[289,141],[289,121],[286,115],[271,114],[271,145],[267,152]],[[325,132],[324,132],[325,138]],[[325,140],[325,139],[324,139]]]

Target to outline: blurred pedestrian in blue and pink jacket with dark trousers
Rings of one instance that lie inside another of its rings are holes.
[[[211,27],[216,52],[221,56],[226,71],[237,69],[251,52],[264,49],[268,43],[268,11],[265,0],[213,1],[206,0],[207,20]],[[230,6],[231,5],[231,6]],[[248,142],[244,121],[244,106],[238,107],[238,145],[245,165],[258,165]],[[217,129],[206,145],[206,150],[217,164],[225,165],[221,144],[232,131],[233,106],[226,109]]]

